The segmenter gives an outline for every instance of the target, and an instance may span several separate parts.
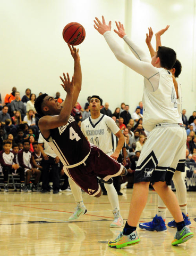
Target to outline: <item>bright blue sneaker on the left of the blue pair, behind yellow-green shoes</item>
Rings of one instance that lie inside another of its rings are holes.
[[[147,231],[167,231],[165,221],[162,219],[162,217],[158,217],[157,214],[152,221],[140,223],[139,227]]]

